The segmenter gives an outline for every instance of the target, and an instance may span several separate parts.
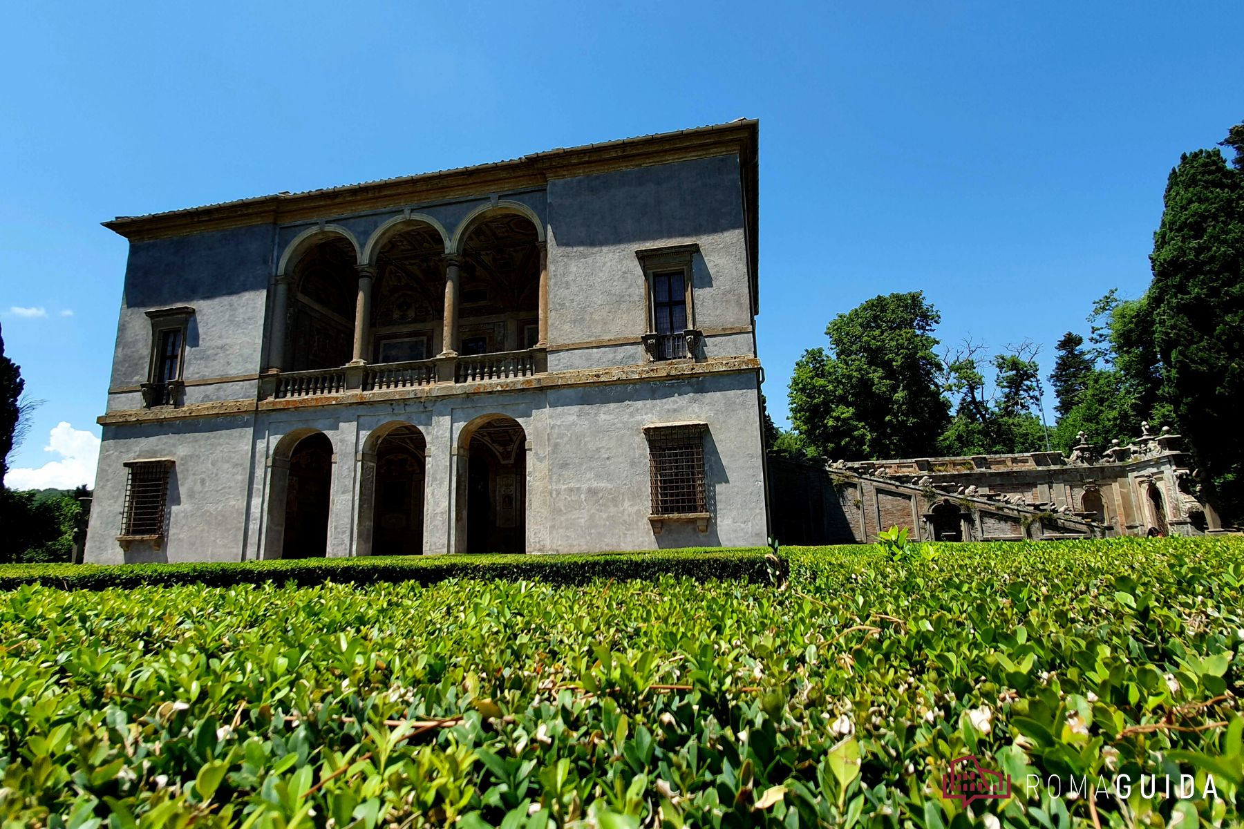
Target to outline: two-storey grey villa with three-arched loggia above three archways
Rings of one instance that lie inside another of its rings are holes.
[[[756,134],[104,222],[86,559],[763,543]]]

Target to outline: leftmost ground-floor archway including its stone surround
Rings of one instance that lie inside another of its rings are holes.
[[[332,441],[318,429],[295,429],[272,447],[264,558],[327,554],[335,460]]]

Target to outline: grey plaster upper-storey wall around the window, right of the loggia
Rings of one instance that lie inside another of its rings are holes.
[[[550,342],[582,343],[646,332],[647,286],[636,251],[692,242],[700,249],[692,263],[697,326],[750,324],[736,155],[550,181]],[[735,354],[754,354],[750,339],[729,344],[746,348]],[[587,368],[616,365],[610,362],[615,357],[591,349],[572,359]]]

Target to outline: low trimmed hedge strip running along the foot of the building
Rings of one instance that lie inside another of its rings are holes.
[[[540,579],[550,584],[585,584],[597,578],[652,580],[662,575],[755,580],[766,575],[764,557],[768,552],[765,548],[688,548],[588,556],[378,556],[188,564],[0,564],[0,590],[22,584],[67,590],[175,584],[435,584],[450,578]]]

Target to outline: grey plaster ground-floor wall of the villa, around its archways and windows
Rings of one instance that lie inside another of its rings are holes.
[[[479,419],[506,415],[526,434],[529,552],[590,552],[688,546],[755,546],[765,541],[764,454],[753,372],[689,380],[639,382],[435,398],[351,406],[261,411],[173,424],[107,426],[100,456],[87,561],[236,561],[280,551],[272,536],[284,501],[271,496],[274,461],[291,436],[322,431],[335,459],[328,521],[332,556],[356,554],[363,496],[360,465],[373,435],[393,424],[419,429],[427,441],[424,552],[465,546],[457,505],[465,464],[459,446]],[[703,420],[705,479],[713,518],[648,522],[648,446],[643,426]],[[284,441],[284,442],[282,442]],[[160,551],[121,532],[127,460],[172,457],[168,537]]]

